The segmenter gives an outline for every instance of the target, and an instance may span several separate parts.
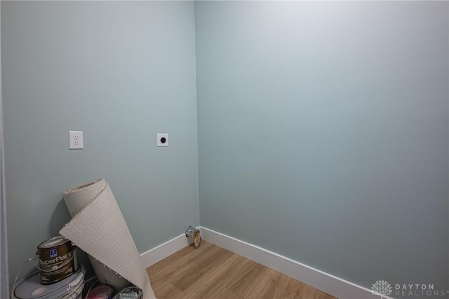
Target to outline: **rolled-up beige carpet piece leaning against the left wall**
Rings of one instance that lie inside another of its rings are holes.
[[[107,181],[84,183],[65,190],[62,195],[72,220],[60,234],[88,253],[97,278],[116,290],[130,282],[142,288],[143,299],[156,298]]]

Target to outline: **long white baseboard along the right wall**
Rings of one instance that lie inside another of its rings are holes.
[[[372,291],[363,286],[358,286],[350,281],[335,277],[308,265],[297,262],[259,246],[243,242],[234,237],[229,237],[220,232],[208,228],[199,227],[201,239],[213,243],[224,249],[237,253],[245,258],[254,260],[273,270],[302,281],[304,284],[318,288],[320,291],[341,299],[376,299],[380,296],[373,295]],[[383,298],[392,299],[386,295]]]

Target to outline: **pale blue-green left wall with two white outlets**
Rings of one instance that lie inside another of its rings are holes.
[[[189,1],[1,1],[12,279],[85,181],[109,181],[141,253],[199,225],[194,33]]]

